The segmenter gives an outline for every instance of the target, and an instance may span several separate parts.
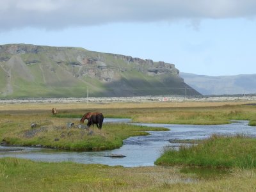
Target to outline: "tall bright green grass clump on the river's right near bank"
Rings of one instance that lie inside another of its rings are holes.
[[[167,149],[155,163],[170,166],[256,168],[256,139],[243,135],[212,136],[192,147],[182,145],[179,151]]]

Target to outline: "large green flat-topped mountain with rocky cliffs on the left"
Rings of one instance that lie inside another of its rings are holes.
[[[0,45],[0,98],[200,95],[163,61],[77,47]]]

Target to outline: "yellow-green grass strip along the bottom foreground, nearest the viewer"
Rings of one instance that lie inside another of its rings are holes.
[[[255,186],[255,169],[232,168],[205,179],[177,166],[124,168],[0,158],[0,191],[255,191]]]

